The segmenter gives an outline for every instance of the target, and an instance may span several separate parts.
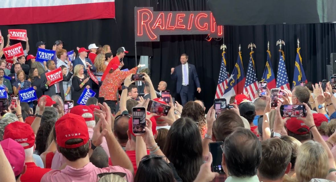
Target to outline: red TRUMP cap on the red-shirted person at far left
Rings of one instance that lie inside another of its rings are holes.
[[[31,148],[35,143],[35,134],[32,127],[27,123],[15,121],[5,127],[3,139],[11,138],[17,143],[28,143],[24,149]]]

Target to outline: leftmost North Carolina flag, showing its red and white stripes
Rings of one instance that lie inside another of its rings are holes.
[[[245,85],[245,74],[243,68],[243,61],[241,52],[238,53],[237,63],[235,68],[232,71],[231,77],[226,86],[224,95],[222,98],[226,100],[230,100],[230,97],[242,94],[244,92]]]

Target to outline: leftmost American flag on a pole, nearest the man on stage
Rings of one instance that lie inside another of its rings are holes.
[[[227,85],[227,82],[229,81],[229,77],[226,71],[226,65],[225,65],[225,53],[222,57],[222,63],[220,65],[220,71],[219,71],[219,77],[218,77],[218,85],[216,89],[216,98],[222,98],[224,95],[224,91]]]

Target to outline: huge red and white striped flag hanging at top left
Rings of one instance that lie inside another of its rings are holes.
[[[115,0],[2,0],[0,25],[115,18]]]

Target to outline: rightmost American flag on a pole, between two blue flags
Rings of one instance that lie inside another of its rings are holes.
[[[277,75],[277,88],[282,90],[284,89],[289,90],[290,88],[288,82],[286,64],[281,52],[280,52],[278,75]]]

